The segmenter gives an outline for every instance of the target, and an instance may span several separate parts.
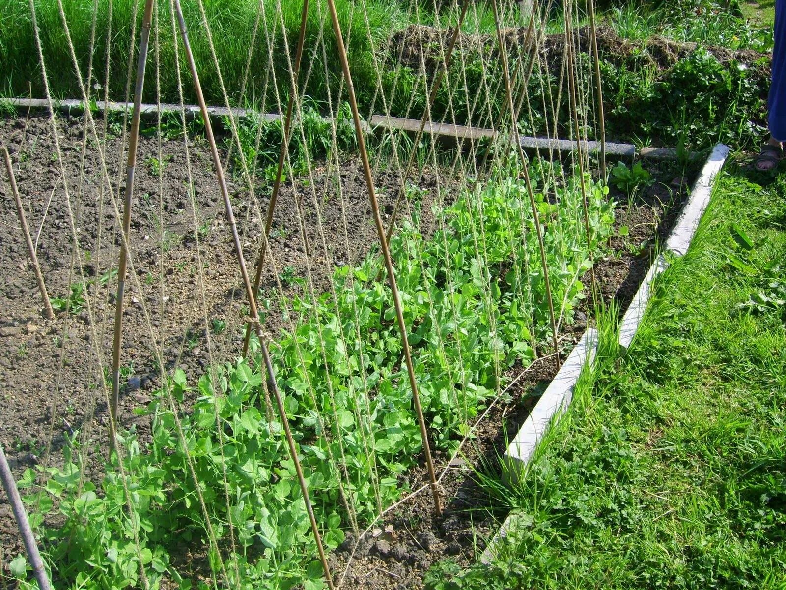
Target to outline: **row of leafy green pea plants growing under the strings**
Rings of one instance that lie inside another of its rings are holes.
[[[406,325],[430,436],[454,452],[505,369],[526,366],[549,339],[531,203],[518,165],[472,183],[453,205],[420,212],[391,240]],[[533,166],[533,179],[553,178]],[[571,321],[579,280],[612,231],[608,190],[586,179],[587,244],[578,179],[535,183],[553,297]],[[421,434],[402,363],[393,302],[376,253],[333,273],[329,294],[287,301],[297,323],[270,346],[277,382],[326,548],[408,491]],[[189,382],[175,371],[138,414],[141,442],[119,433],[101,481],[85,478],[76,437],[63,467],[28,497],[33,524],[61,588],[322,588],[321,568],[281,422],[266,410],[262,363],[211,367]],[[251,362],[253,361],[253,362]],[[189,411],[182,410],[188,400]],[[183,544],[202,569],[178,558]],[[21,588],[32,588],[24,568]]]

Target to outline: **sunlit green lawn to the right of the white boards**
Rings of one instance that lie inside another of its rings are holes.
[[[786,588],[786,175],[729,168],[630,351],[522,485],[483,476],[520,523],[495,565],[430,588]]]

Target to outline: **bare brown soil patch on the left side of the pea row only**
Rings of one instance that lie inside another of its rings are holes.
[[[44,318],[3,168],[0,174],[0,400],[3,404],[0,443],[13,473],[19,477],[25,468],[35,464],[61,465],[65,435],[79,431],[87,441],[88,455],[94,457],[94,464],[88,470],[94,470],[100,477],[106,450],[108,400],[102,384],[104,367],[111,367],[112,363],[116,293],[114,278],[105,284],[101,284],[100,278],[110,265],[117,265],[118,224],[111,200],[106,194],[102,199],[104,175],[99,150],[91,142],[92,135],[88,135],[88,148],[81,164],[83,119],[64,117],[58,121],[64,175],[61,175],[48,116],[0,120],[0,145],[8,146],[15,166],[18,164],[17,184],[28,206],[28,226],[37,243],[50,297],[64,297],[69,285],[86,283],[87,303],[79,313],[60,312],[53,321]],[[98,125],[100,132],[101,121]],[[110,136],[105,148],[108,175],[115,187],[124,186],[125,159],[119,164],[120,146],[121,139]],[[136,424],[142,440],[147,432],[147,419],[134,415],[133,410],[149,401],[147,392],[160,386],[154,354],[163,359],[170,373],[174,367],[181,367],[190,379],[195,379],[208,364],[230,360],[242,348],[238,324],[247,313],[245,293],[210,151],[200,138],[189,139],[189,150],[195,206],[189,199],[182,138],[163,142],[159,155],[157,139],[142,137],[138,152],[130,270],[123,312],[121,367],[126,385],[121,392],[119,422],[126,426]],[[156,164],[151,158],[166,162],[161,184],[157,172],[153,173]],[[307,260],[314,289],[321,293],[329,288],[329,273],[334,266],[354,262],[377,243],[362,168],[354,160],[344,161],[339,176],[343,203],[336,190],[335,171],[328,171],[325,166],[314,168],[313,182],[310,178],[299,178],[296,186],[292,181],[282,186],[271,251],[287,297],[307,294],[304,293],[307,286],[299,285],[296,280],[307,275]],[[435,182],[435,174],[427,170],[421,176],[420,186],[432,188]],[[266,185],[269,183],[260,181],[257,202],[253,203],[240,179],[229,179],[249,266],[256,258],[256,243],[263,226],[260,220],[266,212],[266,189],[269,190]],[[444,198],[450,199],[450,185],[441,186]],[[399,178],[381,171],[376,175],[376,187],[380,208],[387,219]],[[435,192],[432,190],[427,195]],[[299,232],[295,194],[303,200],[303,218],[313,249],[310,257],[305,254]],[[430,198],[424,197],[424,211],[431,210]],[[75,233],[79,236],[80,260],[75,258],[69,202]],[[321,217],[321,231],[317,212]],[[424,221],[428,223],[428,215],[424,215]],[[271,301],[265,327],[274,336],[288,323],[277,303],[276,273],[269,266],[263,273],[262,288],[262,299]],[[214,330],[214,319],[226,322],[226,328]],[[5,496],[0,495],[0,562],[9,563],[20,550],[9,505]]]

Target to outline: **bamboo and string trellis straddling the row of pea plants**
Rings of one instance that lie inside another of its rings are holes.
[[[96,0],[86,37],[68,0],[57,25],[29,4],[59,179],[30,197],[27,138],[6,168],[41,297],[45,280],[71,293],[53,300],[57,352],[74,330],[88,348],[83,371],[58,364],[44,470],[24,475],[34,514],[65,514],[46,538],[76,548],[45,548],[52,575],[350,584],[396,510],[424,493],[433,523],[453,510],[452,462],[534,363],[560,366],[585,273],[597,297],[593,2]],[[76,142],[50,87],[55,26],[85,105]],[[528,155],[524,135],[575,150]],[[50,208],[68,236],[46,231]],[[38,249],[71,264],[42,274]],[[90,393],[62,455],[69,381]],[[77,483],[53,503],[47,473]],[[86,497],[117,500],[100,541],[99,517],[68,513]],[[174,559],[177,535],[201,565]],[[90,543],[105,573],[75,562]]]

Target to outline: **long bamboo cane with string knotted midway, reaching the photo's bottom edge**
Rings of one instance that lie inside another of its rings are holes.
[[[278,385],[276,383],[276,378],[273,370],[273,362],[272,360],[270,360],[270,352],[268,352],[266,338],[262,331],[262,323],[259,321],[259,312],[257,311],[257,307],[256,307],[256,297],[255,297],[254,289],[252,289],[251,280],[248,278],[248,269],[245,264],[245,257],[243,256],[243,246],[241,244],[240,233],[237,231],[237,222],[235,221],[235,216],[232,208],[232,201],[230,200],[230,192],[226,188],[224,169],[222,167],[221,157],[219,156],[219,149],[215,144],[215,137],[213,135],[213,127],[210,123],[208,107],[207,105],[205,105],[204,102],[204,95],[202,94],[202,84],[200,83],[199,73],[196,72],[196,61],[194,61],[193,52],[191,51],[191,44],[189,42],[188,31],[186,30],[185,27],[185,19],[183,18],[183,12],[180,6],[180,0],[173,0],[173,4],[174,4],[175,13],[177,13],[177,17],[178,17],[180,35],[183,42],[183,49],[185,50],[185,57],[189,62],[189,70],[191,71],[191,76],[193,78],[194,90],[196,91],[196,98],[200,105],[200,111],[202,112],[202,119],[204,120],[205,135],[207,135],[208,137],[208,143],[210,144],[210,149],[213,156],[213,163],[215,164],[215,172],[219,181],[219,188],[221,189],[221,194],[224,199],[224,207],[226,208],[227,223],[229,224],[230,230],[232,231],[232,238],[235,245],[235,253],[237,254],[237,262],[241,268],[241,275],[243,277],[243,283],[246,289],[246,295],[248,296],[248,307],[250,308],[252,324],[254,325],[257,337],[259,337],[259,348],[261,348],[263,362],[265,363],[267,388],[273,392],[273,395],[276,398],[278,413],[281,415],[281,424],[282,426],[284,426],[284,433],[287,439],[289,455],[292,457],[292,463],[294,463],[295,465],[295,471],[300,485],[300,491],[303,493],[303,501],[306,504],[306,510],[308,512],[308,518],[311,525],[311,532],[314,533],[314,540],[317,543],[317,551],[319,553],[319,560],[322,565],[322,571],[325,573],[325,581],[327,581],[328,588],[332,590],[333,581],[330,575],[328,560],[327,557],[325,556],[325,548],[323,548],[322,546],[322,538],[319,533],[317,518],[316,516],[314,516],[314,508],[311,506],[311,500],[308,493],[306,480],[305,478],[303,478],[303,468],[300,466],[300,459],[298,458],[295,440],[292,438],[292,430],[290,430],[289,428],[289,420],[287,419],[287,412],[284,407],[284,400],[281,398],[281,393],[279,392]]]

